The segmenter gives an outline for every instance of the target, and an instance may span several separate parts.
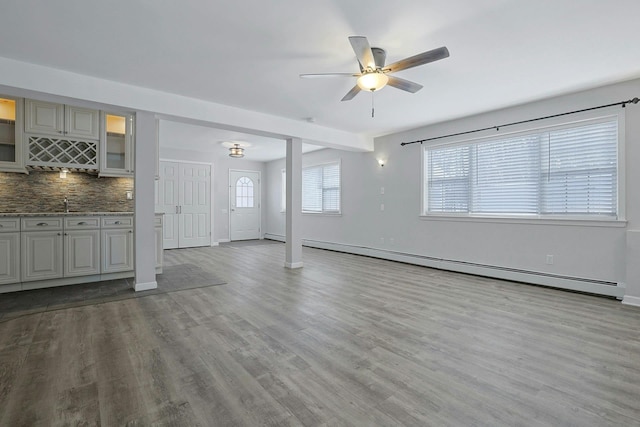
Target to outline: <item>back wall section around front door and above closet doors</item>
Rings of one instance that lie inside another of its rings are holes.
[[[245,159],[232,159],[226,154],[218,155],[214,152],[179,150],[162,146],[162,132],[160,132],[160,158],[186,162],[213,164],[211,200],[213,208],[212,243],[229,240],[229,169],[259,171],[262,175],[261,206],[266,205],[266,184],[264,183],[265,163]],[[262,226],[265,229],[266,209],[262,209]]]

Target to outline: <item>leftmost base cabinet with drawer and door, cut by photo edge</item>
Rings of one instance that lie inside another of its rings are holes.
[[[20,219],[0,218],[0,287],[13,285],[11,290],[18,290],[19,282]]]

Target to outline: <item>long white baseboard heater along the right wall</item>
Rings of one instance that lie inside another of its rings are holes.
[[[284,236],[278,234],[267,233],[264,235],[264,238],[280,242],[285,241]],[[407,264],[420,265],[423,267],[436,268],[439,270],[474,274],[477,276],[491,277],[513,282],[522,282],[534,285],[549,286],[553,288],[568,289],[572,291],[588,292],[592,294],[605,295],[616,298],[622,298],[624,296],[624,287],[615,282],[568,277],[493,265],[476,264],[465,261],[434,258],[424,255],[389,251],[384,249],[374,249],[366,246],[323,242],[319,240],[303,239],[302,245],[310,248],[327,249],[336,252],[363,255],[372,258],[404,262]]]

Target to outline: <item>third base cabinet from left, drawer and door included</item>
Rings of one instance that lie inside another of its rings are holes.
[[[100,274],[100,218],[64,221],[64,277]]]

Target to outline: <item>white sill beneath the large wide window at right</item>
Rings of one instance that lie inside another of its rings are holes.
[[[429,214],[420,215],[423,221],[450,221],[450,222],[477,222],[495,224],[531,224],[531,225],[562,225],[576,227],[612,227],[623,228],[627,226],[626,220],[621,219],[584,219],[584,218],[542,218],[542,217],[517,217],[517,216],[490,216],[490,215],[447,215]]]

